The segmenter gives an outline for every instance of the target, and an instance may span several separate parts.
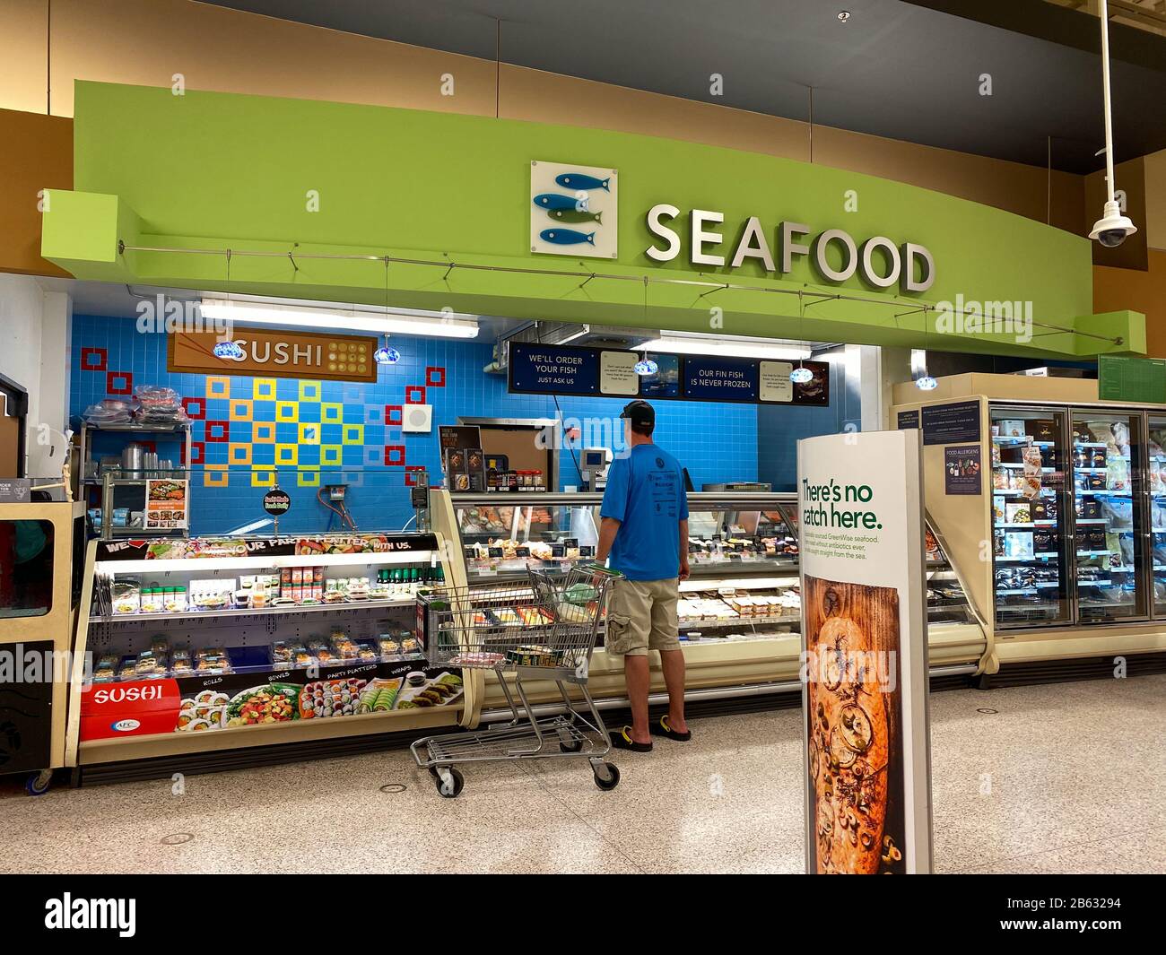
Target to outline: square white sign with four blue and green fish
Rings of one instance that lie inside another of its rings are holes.
[[[618,170],[531,162],[531,252],[617,258]]]

